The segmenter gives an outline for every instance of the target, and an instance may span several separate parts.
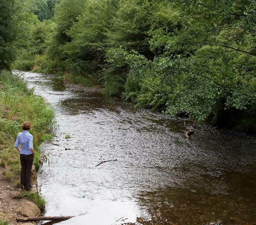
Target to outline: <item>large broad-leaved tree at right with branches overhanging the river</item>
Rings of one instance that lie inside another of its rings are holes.
[[[125,44],[108,52],[113,67],[128,66],[126,98],[200,120],[220,119],[224,111],[252,113],[256,108],[255,2],[162,1],[153,6],[147,33],[154,60],[144,59],[142,67],[140,52],[130,52]]]

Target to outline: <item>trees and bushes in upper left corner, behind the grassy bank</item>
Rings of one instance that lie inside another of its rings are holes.
[[[17,56],[17,68],[31,69],[30,66],[34,65],[34,55],[42,54],[42,48],[46,48],[43,46],[44,39],[50,33],[48,23],[40,24],[38,18],[40,20],[50,18],[56,2],[57,0],[2,0],[0,2],[0,70],[10,69]],[[48,7],[45,16],[42,16],[44,14],[42,4],[47,4]]]

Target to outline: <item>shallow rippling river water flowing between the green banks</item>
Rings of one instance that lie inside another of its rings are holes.
[[[56,110],[38,183],[46,215],[77,215],[59,224],[256,224],[256,137],[197,125],[186,140],[191,121],[23,76]]]

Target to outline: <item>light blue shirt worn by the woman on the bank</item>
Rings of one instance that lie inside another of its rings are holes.
[[[27,131],[19,133],[14,147],[18,147],[20,144],[20,154],[30,155],[32,152],[29,150],[33,148],[33,136]]]

